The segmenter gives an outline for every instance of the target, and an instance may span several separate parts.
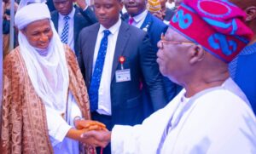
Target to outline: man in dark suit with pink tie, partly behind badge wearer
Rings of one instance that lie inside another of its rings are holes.
[[[158,51],[157,43],[160,41],[160,36],[162,33],[166,32],[167,26],[160,19],[156,18],[154,15],[150,14],[146,9],[148,1],[145,0],[124,0],[125,9],[127,10],[127,14],[123,17],[129,24],[132,26],[136,26],[137,28],[142,29],[143,31],[147,31],[150,37],[151,43],[153,45],[154,53],[156,54]],[[166,93],[166,104],[172,100],[178,92],[181,90],[181,87],[176,83],[172,83],[170,79],[167,77],[163,77],[165,93]],[[143,84],[144,85],[144,84]],[[148,93],[148,91],[146,92]],[[154,111],[159,110],[164,106],[159,106],[159,108],[154,108],[155,106],[152,102],[152,106],[150,105],[150,98],[148,98],[148,94],[144,94],[143,102],[144,102],[144,114],[145,117],[148,117]]]

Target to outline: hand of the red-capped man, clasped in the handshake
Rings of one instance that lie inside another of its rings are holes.
[[[104,148],[111,140],[111,132],[106,130],[92,130],[81,134],[80,137],[82,140],[84,140],[82,142],[85,142],[88,145],[91,145],[93,147],[101,146]]]

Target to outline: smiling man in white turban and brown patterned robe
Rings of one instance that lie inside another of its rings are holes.
[[[1,152],[79,154],[79,142],[88,141],[80,135],[105,126],[89,121],[76,57],[61,43],[45,3],[21,1],[15,25],[20,46],[3,62]]]

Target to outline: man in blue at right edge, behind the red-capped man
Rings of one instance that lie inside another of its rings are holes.
[[[247,26],[254,32],[251,42],[230,63],[230,76],[247,95],[256,115],[256,3],[254,0],[230,0],[230,2],[245,11]]]

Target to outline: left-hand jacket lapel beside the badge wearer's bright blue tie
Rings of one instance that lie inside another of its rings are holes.
[[[95,29],[91,29],[89,32],[88,32],[88,36],[84,36],[84,37],[88,37],[87,38],[87,49],[85,52],[86,57],[86,68],[85,69],[88,69],[88,82],[90,82],[90,77],[91,77],[91,74],[92,74],[92,64],[93,64],[93,55],[94,55],[94,50],[95,50],[95,46],[96,46],[96,39],[97,39],[97,34],[98,34],[98,31],[99,31],[99,28],[100,28],[100,25],[98,24],[96,26]]]

